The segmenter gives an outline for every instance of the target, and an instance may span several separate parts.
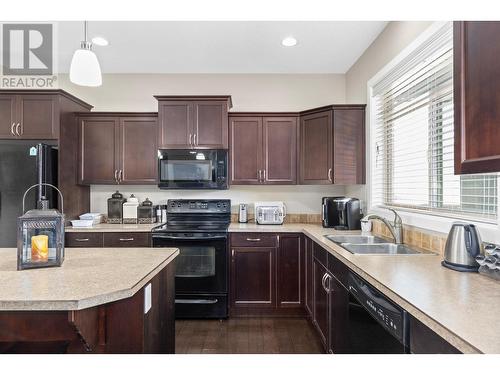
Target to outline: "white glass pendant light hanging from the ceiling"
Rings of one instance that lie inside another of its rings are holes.
[[[69,68],[69,79],[76,85],[97,87],[102,85],[101,67],[92,43],[87,38],[87,21],[84,21],[84,40],[73,54]]]

